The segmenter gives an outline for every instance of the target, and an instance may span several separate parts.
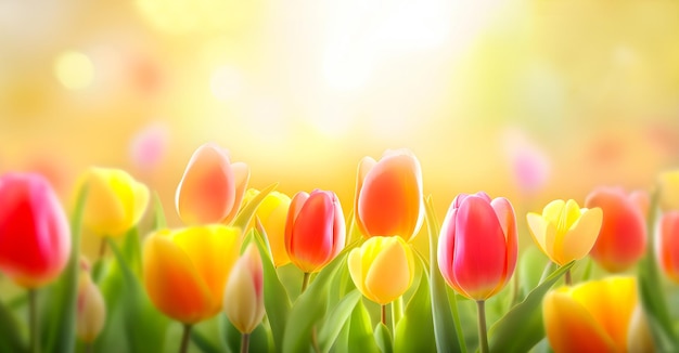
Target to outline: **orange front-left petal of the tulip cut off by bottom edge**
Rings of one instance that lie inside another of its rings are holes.
[[[616,347],[587,310],[563,290],[542,301],[547,338],[554,352],[615,352]]]

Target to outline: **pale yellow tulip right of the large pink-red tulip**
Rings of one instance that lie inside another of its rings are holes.
[[[542,214],[527,214],[533,240],[550,260],[564,265],[585,258],[597,243],[603,212],[587,209],[572,199],[553,200],[545,206]]]

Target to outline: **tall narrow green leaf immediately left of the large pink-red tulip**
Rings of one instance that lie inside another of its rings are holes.
[[[457,313],[458,303],[454,301],[452,305],[448,301],[446,293],[446,284],[440,276],[438,270],[437,248],[439,226],[434,212],[432,197],[425,200],[426,206],[426,224],[430,233],[430,285],[432,286],[432,317],[434,319],[434,336],[436,338],[436,349],[438,352],[466,352],[464,344],[464,336],[460,326],[460,319],[453,322],[453,315],[450,310]],[[454,317],[458,317],[457,315]],[[456,335],[452,335],[456,332]]]

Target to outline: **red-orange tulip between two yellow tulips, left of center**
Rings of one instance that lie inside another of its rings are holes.
[[[285,222],[285,249],[292,263],[306,273],[318,272],[342,251],[345,240],[342,205],[334,193],[295,194]]]

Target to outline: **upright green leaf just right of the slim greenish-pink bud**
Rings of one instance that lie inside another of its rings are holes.
[[[259,232],[256,234],[259,234]],[[265,245],[266,233],[259,235],[256,237],[257,241],[255,243],[259,248],[264,270],[264,306],[271,326],[273,343],[277,348],[281,348],[283,347],[283,335],[287,317],[290,316],[291,303],[287,291],[285,291],[285,287],[276,272],[271,254]]]

